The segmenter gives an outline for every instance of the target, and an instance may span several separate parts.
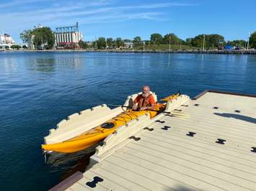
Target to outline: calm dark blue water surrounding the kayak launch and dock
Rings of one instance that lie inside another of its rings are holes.
[[[40,144],[71,113],[122,104],[141,85],[159,98],[181,90],[256,93],[255,55],[0,52],[0,187],[47,190],[88,154],[45,164]]]

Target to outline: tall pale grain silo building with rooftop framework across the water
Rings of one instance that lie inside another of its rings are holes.
[[[57,27],[54,35],[56,49],[80,48],[79,41],[83,39],[78,22],[74,26]]]

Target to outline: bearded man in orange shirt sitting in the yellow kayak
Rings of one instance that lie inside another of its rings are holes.
[[[154,110],[155,104],[156,101],[154,101],[154,96],[150,93],[149,86],[145,85],[142,87],[142,93],[133,101],[133,111]]]

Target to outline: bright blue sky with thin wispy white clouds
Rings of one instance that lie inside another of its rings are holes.
[[[55,29],[79,22],[84,40],[149,39],[154,32],[182,39],[217,33],[232,40],[256,30],[255,0],[0,0],[0,10],[0,33],[16,42],[20,32],[39,23]]]

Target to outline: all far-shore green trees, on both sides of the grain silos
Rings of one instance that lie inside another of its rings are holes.
[[[34,45],[36,49],[52,49],[55,40],[54,33],[50,27],[37,27],[35,29],[25,30],[20,34],[20,38],[24,43]],[[143,40],[139,36],[133,39],[99,37],[92,42],[84,42],[82,40],[79,42],[79,46],[82,49],[109,49],[128,46],[142,48],[144,46],[150,47],[156,45],[186,45],[186,47],[205,48],[207,50],[224,47],[225,45],[246,47],[247,41],[244,39],[225,41],[224,37],[220,34],[199,34],[195,37],[183,40],[174,33],[165,34],[164,36],[159,33],[154,33],[150,35],[150,39],[148,40]],[[256,48],[256,32],[252,33],[250,36],[250,47]]]

